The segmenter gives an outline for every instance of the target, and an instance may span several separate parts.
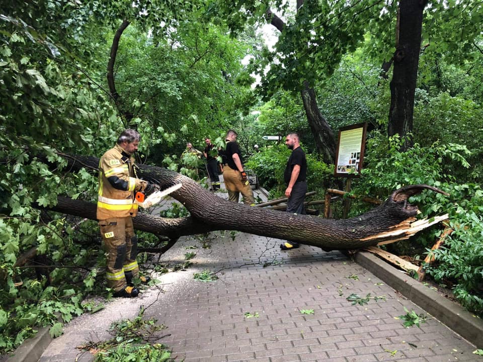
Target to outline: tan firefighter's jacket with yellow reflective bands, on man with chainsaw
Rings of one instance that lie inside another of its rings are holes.
[[[103,154],[99,162],[97,219],[136,216],[134,193],[147,183],[137,178],[134,157],[118,144]]]

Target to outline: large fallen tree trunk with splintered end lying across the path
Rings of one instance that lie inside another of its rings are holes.
[[[76,171],[88,167],[97,171],[99,159],[87,156],[69,156],[68,168]],[[379,207],[352,219],[332,220],[307,215],[296,215],[275,210],[264,210],[244,204],[233,204],[201,188],[194,180],[177,172],[139,165],[138,175],[166,189],[182,183],[183,187],[171,196],[181,202],[191,213],[190,218],[163,219],[151,215],[139,215],[134,219],[136,228],[158,235],[177,237],[213,230],[238,230],[251,234],[297,241],[323,249],[357,249],[374,246],[390,240],[407,239],[421,227],[411,229],[418,208],[410,205],[410,196],[423,190],[446,194],[427,185],[413,185],[392,193]],[[446,194],[447,195],[447,194]],[[73,208],[64,200],[63,208],[55,211],[95,218],[95,205],[91,216]],[[71,201],[73,202],[73,201]],[[86,205],[83,208],[87,208]],[[422,224],[421,220],[418,221]],[[433,222],[434,223],[434,222]],[[426,227],[432,225],[427,222]]]

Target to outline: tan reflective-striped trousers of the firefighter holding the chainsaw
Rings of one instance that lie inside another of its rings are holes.
[[[107,255],[107,286],[114,292],[124,289],[139,276],[137,239],[132,217],[99,220],[104,251]]]

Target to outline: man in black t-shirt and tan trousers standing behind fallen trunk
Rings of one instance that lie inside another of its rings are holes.
[[[236,143],[237,133],[229,130],[226,134],[226,150],[223,155],[223,181],[228,191],[228,200],[238,203],[238,199],[243,196],[243,202],[247,205],[255,205],[252,187],[247,179],[247,174],[243,168],[243,158],[241,158],[240,148]]]

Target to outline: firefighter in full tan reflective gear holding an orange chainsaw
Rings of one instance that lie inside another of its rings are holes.
[[[121,133],[114,148],[99,162],[99,198],[97,219],[101,229],[104,250],[107,252],[106,278],[114,297],[131,298],[139,294],[133,278],[139,277],[137,265],[137,239],[132,218],[137,214],[135,193],[146,196],[156,191],[156,185],[136,175],[134,152],[140,141],[137,131],[127,129]],[[142,277],[147,283],[149,278]]]

